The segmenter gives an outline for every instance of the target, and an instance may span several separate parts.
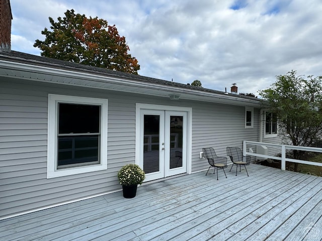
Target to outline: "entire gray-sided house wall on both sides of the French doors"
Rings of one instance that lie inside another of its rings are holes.
[[[192,172],[208,169],[199,158],[203,147],[226,156],[226,146],[242,148],[243,140],[259,139],[259,109],[254,128],[245,129],[245,106],[9,78],[0,86],[0,218],[119,190],[117,171],[135,161],[136,103],[192,107]],[[48,93],[108,99],[107,170],[47,179]]]

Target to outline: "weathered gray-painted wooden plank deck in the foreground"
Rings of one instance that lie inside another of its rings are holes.
[[[0,222],[0,240],[322,240],[322,177],[251,164]]]

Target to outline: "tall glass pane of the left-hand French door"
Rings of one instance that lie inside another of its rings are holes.
[[[144,115],[143,170],[145,173],[159,171],[160,116]]]

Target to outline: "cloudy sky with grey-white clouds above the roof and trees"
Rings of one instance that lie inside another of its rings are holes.
[[[40,55],[36,39],[66,10],[99,17],[125,36],[140,75],[257,93],[276,75],[322,75],[320,0],[11,0],[12,50]]]

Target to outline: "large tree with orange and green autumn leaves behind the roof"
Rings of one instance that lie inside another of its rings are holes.
[[[49,17],[52,31],[45,28],[41,33],[46,39],[35,41],[41,56],[137,74],[140,66],[128,54],[125,37],[119,35],[115,25],[75,14],[74,10],[67,10],[65,17],[57,20]]]

